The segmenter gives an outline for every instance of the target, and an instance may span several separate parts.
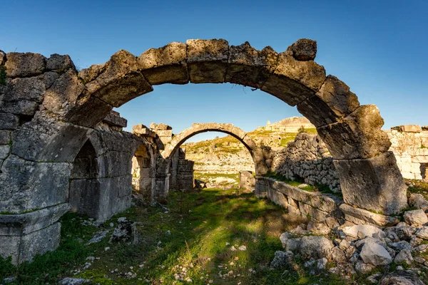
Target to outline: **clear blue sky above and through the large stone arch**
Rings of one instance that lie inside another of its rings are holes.
[[[2,0],[0,49],[69,54],[76,66],[120,49],[188,38],[225,38],[277,52],[298,38],[318,43],[317,63],[376,104],[384,128],[428,125],[427,1],[42,1]],[[231,84],[155,86],[118,108],[132,125],[234,123],[246,131],[298,115],[277,98]],[[217,135],[217,134],[214,134]],[[205,139],[214,135],[198,135]]]

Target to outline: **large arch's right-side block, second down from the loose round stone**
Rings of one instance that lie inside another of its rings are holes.
[[[335,76],[327,76],[320,90],[297,105],[297,110],[305,115],[316,127],[335,123],[360,107],[357,95]]]

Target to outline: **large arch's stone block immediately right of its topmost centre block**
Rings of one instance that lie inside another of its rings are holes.
[[[270,73],[275,70],[278,54],[270,47],[257,51],[245,42],[240,46],[230,46],[230,56],[226,82],[261,88]]]

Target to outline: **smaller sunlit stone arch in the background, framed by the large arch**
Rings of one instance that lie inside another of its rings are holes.
[[[250,138],[247,133],[245,133],[245,131],[235,127],[233,124],[194,123],[190,128],[183,130],[177,135],[174,135],[173,139],[165,145],[165,149],[161,153],[162,156],[165,157],[165,159],[169,159],[186,140],[193,137],[193,135],[206,132],[220,132],[233,136],[233,138],[236,138],[242,142],[250,152],[250,155],[253,157],[253,161],[255,163],[256,174],[263,175],[267,172],[268,167],[266,165],[262,149],[255,144],[254,140]]]

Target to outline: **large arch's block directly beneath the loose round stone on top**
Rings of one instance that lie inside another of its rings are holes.
[[[261,90],[295,106],[314,95],[324,81],[324,67],[315,61],[297,61],[286,51],[278,56],[277,67]]]

